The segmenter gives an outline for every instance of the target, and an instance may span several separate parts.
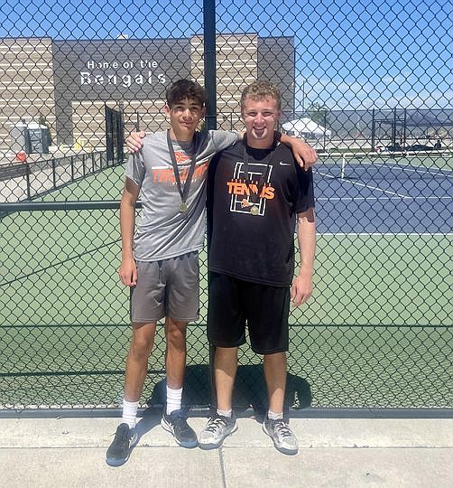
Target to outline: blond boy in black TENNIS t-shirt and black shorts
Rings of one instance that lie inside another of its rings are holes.
[[[252,349],[264,356],[269,411],[263,430],[279,451],[296,454],[283,399],[290,301],[298,306],[312,293],[312,174],[274,139],[281,115],[278,89],[254,82],[243,92],[241,110],[244,140],[216,155],[209,168],[208,339],[216,346],[217,413],[200,433],[199,446],[216,448],[237,428],[232,393],[246,323]],[[300,272],[292,279],[296,221]]]

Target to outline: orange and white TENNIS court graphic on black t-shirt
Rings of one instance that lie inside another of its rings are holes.
[[[249,163],[248,179],[245,179],[244,163],[237,162],[233,178],[227,182],[227,192],[231,195],[230,211],[250,213],[251,207],[255,207],[258,210],[254,215],[264,215],[266,202],[275,196],[270,183],[272,170],[267,164]],[[267,178],[263,182],[266,172]]]

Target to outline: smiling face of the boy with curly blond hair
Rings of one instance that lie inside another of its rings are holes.
[[[281,114],[278,101],[273,97],[247,97],[243,100],[241,113],[247,131],[247,144],[258,148],[271,147],[273,131]]]

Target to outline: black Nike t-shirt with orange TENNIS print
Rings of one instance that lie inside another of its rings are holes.
[[[209,165],[208,267],[245,281],[289,286],[295,216],[314,207],[313,176],[286,145],[244,150],[237,142]]]

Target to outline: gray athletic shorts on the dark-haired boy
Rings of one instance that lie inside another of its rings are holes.
[[[131,288],[131,321],[180,322],[199,318],[199,253],[161,261],[137,261],[137,285]]]

